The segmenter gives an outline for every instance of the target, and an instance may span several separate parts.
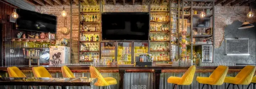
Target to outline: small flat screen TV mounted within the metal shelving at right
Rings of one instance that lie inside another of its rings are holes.
[[[209,27],[210,17],[193,17],[193,27]]]

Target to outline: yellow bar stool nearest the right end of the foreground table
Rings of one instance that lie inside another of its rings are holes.
[[[101,73],[93,66],[90,66],[91,78],[97,78],[97,82],[94,85],[100,87],[107,87],[110,89],[110,85],[117,84],[117,80],[112,77],[102,77]]]

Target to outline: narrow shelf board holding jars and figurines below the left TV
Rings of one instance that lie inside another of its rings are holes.
[[[55,41],[54,39],[28,39],[28,38],[12,38],[11,41],[35,41],[35,42],[47,42]]]

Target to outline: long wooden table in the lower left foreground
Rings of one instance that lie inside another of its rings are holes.
[[[27,85],[27,86],[91,86],[97,82],[97,78],[0,78],[0,85]]]

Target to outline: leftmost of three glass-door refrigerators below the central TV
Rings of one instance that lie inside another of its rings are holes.
[[[115,42],[101,42],[101,59],[114,61],[115,60]]]

